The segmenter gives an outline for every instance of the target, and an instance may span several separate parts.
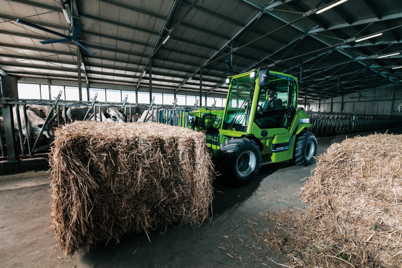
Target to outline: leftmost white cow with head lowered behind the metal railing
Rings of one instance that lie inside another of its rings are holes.
[[[24,111],[22,108],[20,108],[20,119],[21,119],[22,134],[24,136],[27,136],[27,129],[25,128],[25,120],[24,120]],[[45,120],[39,117],[39,115],[37,115],[35,112],[27,110],[27,122],[28,122],[28,131],[33,137],[41,132]],[[53,125],[52,124],[48,125],[49,125],[49,133],[50,135],[53,136]],[[14,113],[14,128],[18,130],[17,115],[15,113]],[[50,139],[49,133],[47,133],[47,131],[43,131],[43,134],[45,134],[46,137]]]

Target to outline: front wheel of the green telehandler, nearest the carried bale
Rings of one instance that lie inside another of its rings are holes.
[[[255,141],[230,139],[217,152],[219,172],[236,185],[249,184],[261,168],[261,152]]]

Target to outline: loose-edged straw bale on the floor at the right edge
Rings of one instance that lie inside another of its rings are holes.
[[[306,211],[270,212],[265,241],[290,267],[402,267],[402,135],[332,144],[300,197]]]

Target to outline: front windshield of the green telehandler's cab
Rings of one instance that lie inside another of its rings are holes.
[[[234,78],[230,87],[222,129],[246,132],[255,78]]]

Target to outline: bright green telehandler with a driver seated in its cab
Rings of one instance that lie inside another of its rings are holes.
[[[237,185],[248,184],[265,164],[312,164],[317,139],[306,131],[308,115],[297,109],[297,78],[261,69],[226,82],[224,110],[164,110],[160,123],[205,131],[215,166]]]

